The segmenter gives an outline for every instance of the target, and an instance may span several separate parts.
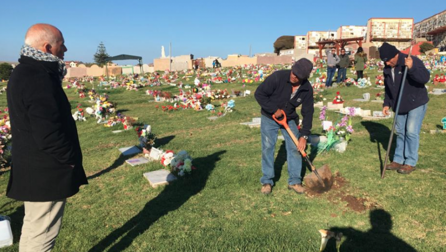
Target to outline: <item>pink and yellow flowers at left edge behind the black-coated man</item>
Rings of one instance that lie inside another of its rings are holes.
[[[4,168],[11,155],[11,124],[9,121],[8,109],[4,109],[0,117],[0,168]]]

